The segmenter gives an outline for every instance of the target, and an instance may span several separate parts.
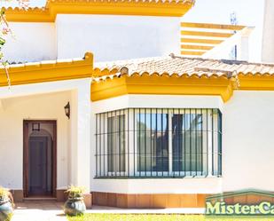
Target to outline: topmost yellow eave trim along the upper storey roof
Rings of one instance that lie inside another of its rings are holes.
[[[181,17],[193,6],[192,1],[85,1],[49,0],[45,8],[23,10],[8,8],[6,17],[17,22],[54,22],[57,14],[113,14]]]

